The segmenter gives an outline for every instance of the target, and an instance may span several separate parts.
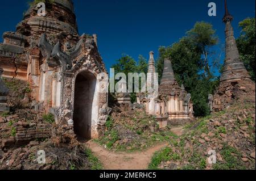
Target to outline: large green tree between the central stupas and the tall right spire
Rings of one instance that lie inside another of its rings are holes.
[[[215,33],[212,24],[197,22],[177,43],[159,48],[156,64],[159,78],[162,77],[164,58],[170,57],[177,82],[191,93],[195,116],[209,114],[208,94],[213,93],[218,83],[211,72],[211,66],[219,61],[212,50],[218,43]],[[213,62],[212,65],[209,62]]]

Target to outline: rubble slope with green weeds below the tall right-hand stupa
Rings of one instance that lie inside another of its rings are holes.
[[[255,105],[238,103],[199,120],[171,140],[159,169],[255,169]],[[166,159],[168,158],[168,159]],[[216,158],[216,163],[209,159]],[[154,158],[153,158],[154,160]]]

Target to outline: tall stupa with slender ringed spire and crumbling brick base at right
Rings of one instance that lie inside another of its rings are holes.
[[[225,23],[226,35],[226,56],[224,68],[222,70],[220,85],[214,95],[209,95],[209,106],[211,111],[224,110],[230,106],[234,100],[241,96],[255,94],[255,83],[251,81],[245,65],[240,59],[234,31],[232,27],[233,16],[229,14],[227,2],[225,0]]]

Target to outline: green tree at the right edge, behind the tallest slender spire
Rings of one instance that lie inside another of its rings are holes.
[[[255,81],[255,18],[246,18],[239,26],[242,31],[237,39],[237,47],[251,79]]]

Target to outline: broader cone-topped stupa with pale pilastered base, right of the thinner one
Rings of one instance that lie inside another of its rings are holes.
[[[171,124],[185,124],[193,119],[191,95],[177,83],[171,60],[164,59],[163,77],[159,86],[158,116],[168,117]]]

